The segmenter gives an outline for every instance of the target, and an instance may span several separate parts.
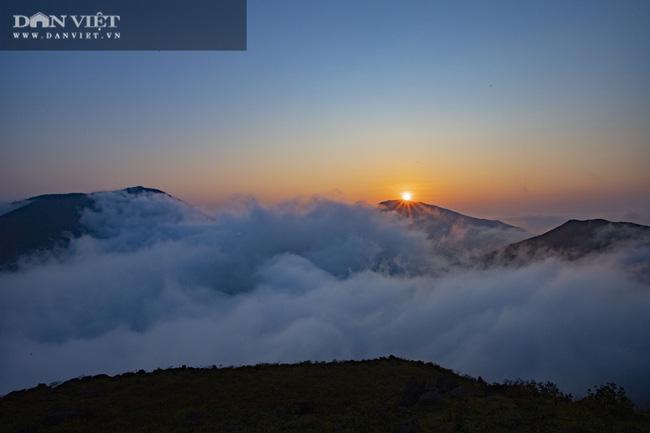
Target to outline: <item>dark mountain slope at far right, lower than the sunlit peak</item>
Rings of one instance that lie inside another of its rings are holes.
[[[604,219],[570,220],[542,235],[495,251],[486,257],[486,262],[522,265],[549,256],[577,260],[627,242],[650,242],[650,227]]]

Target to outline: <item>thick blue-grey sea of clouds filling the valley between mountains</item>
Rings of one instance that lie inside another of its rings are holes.
[[[95,194],[93,235],[0,273],[0,393],[140,368],[382,355],[650,403],[647,247],[578,262],[454,267],[363,204]]]

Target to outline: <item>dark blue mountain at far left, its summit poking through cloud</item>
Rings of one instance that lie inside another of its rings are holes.
[[[142,186],[122,190],[127,194],[166,194]],[[166,194],[168,195],[168,194]],[[0,269],[14,268],[21,256],[65,248],[70,239],[88,233],[81,223],[86,209],[94,208],[93,194],[44,194],[18,203],[0,215]]]

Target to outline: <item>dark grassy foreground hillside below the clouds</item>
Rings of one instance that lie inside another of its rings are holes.
[[[486,384],[382,358],[157,370],[75,379],[0,399],[3,432],[650,432],[621,390]]]

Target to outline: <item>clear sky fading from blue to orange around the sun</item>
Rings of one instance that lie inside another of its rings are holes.
[[[0,200],[146,185],[650,222],[650,3],[249,0],[242,52],[1,52]]]

